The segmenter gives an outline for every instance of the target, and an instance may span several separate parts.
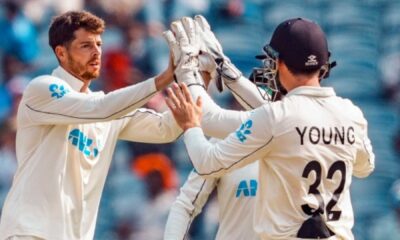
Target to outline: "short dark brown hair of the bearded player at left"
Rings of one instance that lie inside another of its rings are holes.
[[[49,29],[49,45],[55,51],[59,45],[67,45],[75,39],[75,31],[102,34],[105,29],[103,19],[87,11],[68,11],[53,18]]]

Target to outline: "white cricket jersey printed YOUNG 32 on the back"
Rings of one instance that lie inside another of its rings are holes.
[[[332,88],[304,86],[251,112],[225,112],[204,90],[190,88],[203,97],[203,125],[239,127],[216,144],[201,128],[185,132],[199,175],[219,177],[260,159],[255,231],[262,239],[317,238],[318,231],[354,238],[352,175],[368,176],[375,161],[358,107]]]

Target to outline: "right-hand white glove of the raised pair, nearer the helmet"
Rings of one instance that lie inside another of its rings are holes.
[[[211,31],[207,20],[197,15],[195,20],[195,34],[200,40],[200,70],[207,71],[215,79],[219,91],[223,90],[222,79],[225,84],[237,81],[242,73],[233,65],[230,59],[225,56],[222,46]]]

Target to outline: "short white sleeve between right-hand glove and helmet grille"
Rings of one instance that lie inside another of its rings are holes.
[[[267,95],[263,89],[257,88],[249,79],[241,76],[237,81],[227,81],[225,86],[231,91],[232,95],[239,104],[246,110],[255,109],[268,102],[263,98]]]

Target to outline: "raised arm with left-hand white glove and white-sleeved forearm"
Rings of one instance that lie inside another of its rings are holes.
[[[173,22],[171,28],[174,33],[166,31],[164,37],[173,53],[174,63],[177,65],[175,70],[177,80],[190,87],[194,99],[202,96],[205,114],[201,125],[205,133],[208,136],[225,138],[246,119],[247,114],[221,109],[205,91],[206,84],[199,73],[200,43],[199,35],[196,34],[199,25],[191,18],[182,18],[181,21]],[[174,88],[179,87],[175,85]]]

